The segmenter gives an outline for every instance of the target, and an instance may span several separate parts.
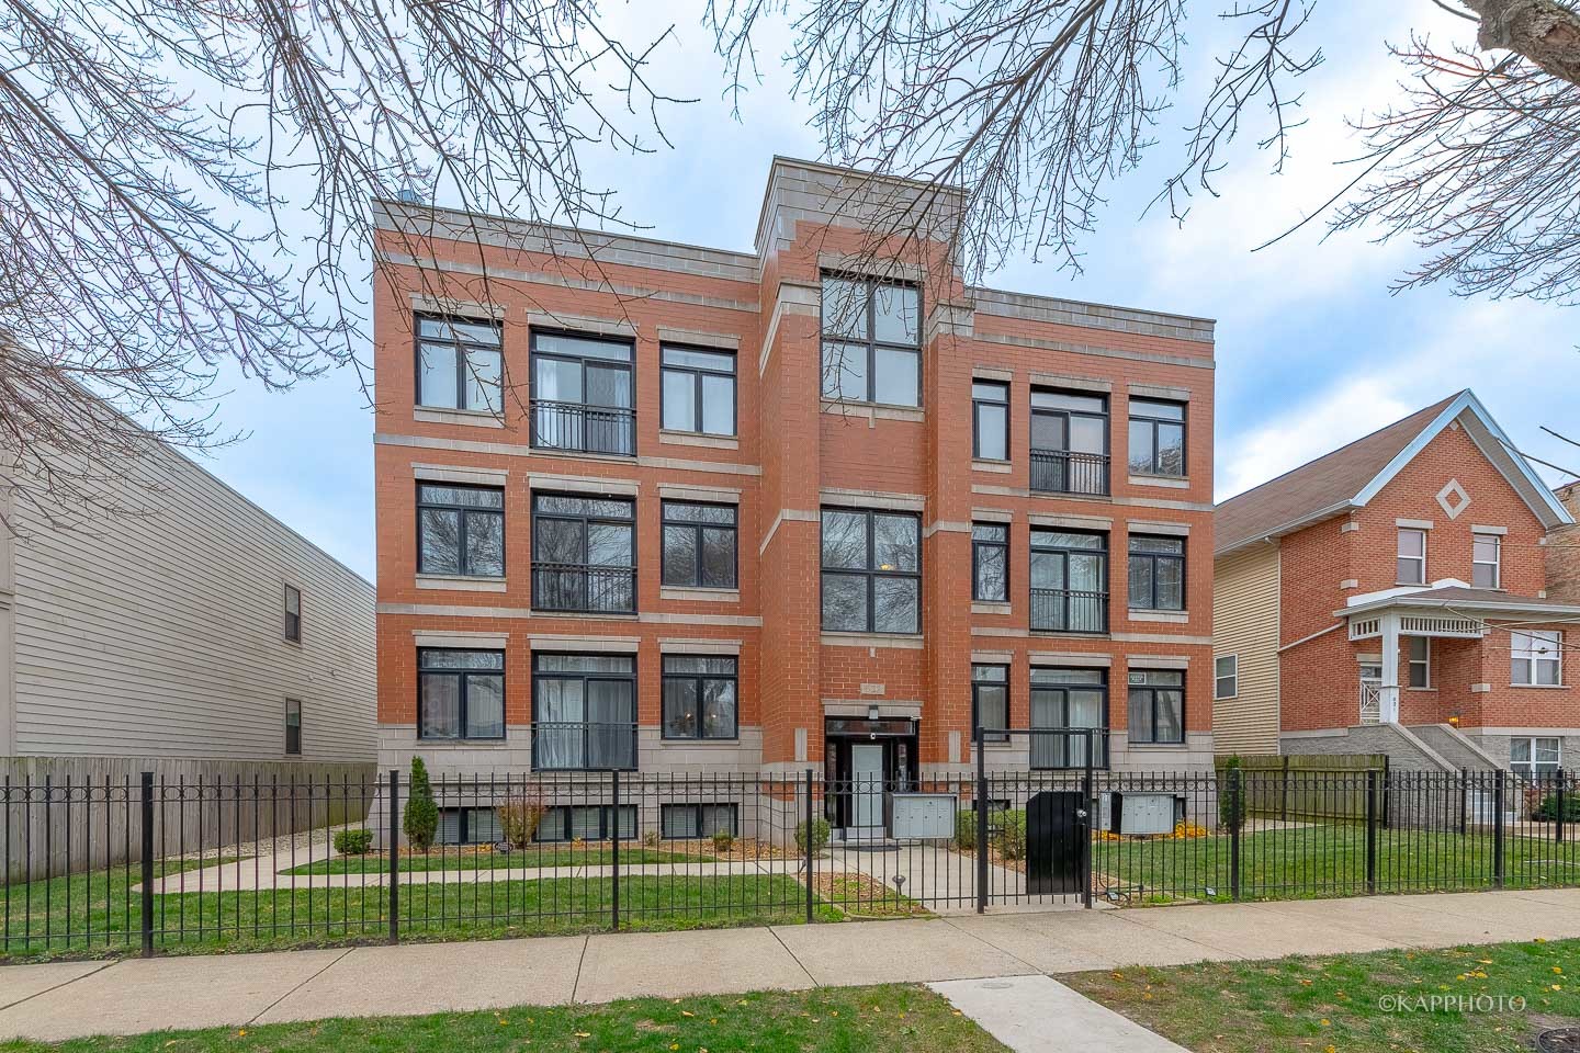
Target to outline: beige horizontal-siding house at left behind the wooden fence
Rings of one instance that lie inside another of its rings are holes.
[[[0,755],[35,758],[11,770],[370,764],[373,586],[163,445],[111,488],[137,512],[8,508]]]

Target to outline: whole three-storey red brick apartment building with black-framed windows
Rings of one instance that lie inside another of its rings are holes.
[[[973,709],[1210,764],[1212,324],[871,251],[916,200],[776,159],[752,253],[381,205],[384,766],[894,785]]]

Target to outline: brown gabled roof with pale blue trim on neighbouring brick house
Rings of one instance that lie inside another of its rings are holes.
[[[1231,497],[1213,512],[1217,554],[1283,537],[1370,502],[1450,422],[1465,418],[1480,447],[1548,529],[1574,523],[1569,512],[1509,442],[1469,388],[1416,410],[1387,428]]]

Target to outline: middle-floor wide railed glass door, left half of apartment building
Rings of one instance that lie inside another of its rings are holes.
[[[627,499],[532,494],[532,606],[634,613],[635,535]]]

